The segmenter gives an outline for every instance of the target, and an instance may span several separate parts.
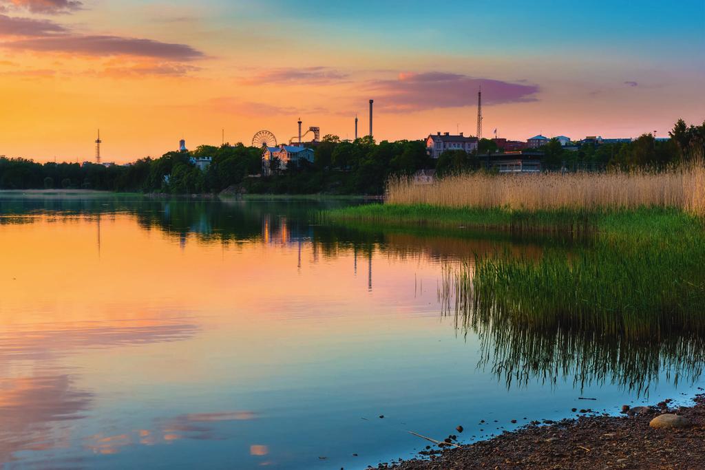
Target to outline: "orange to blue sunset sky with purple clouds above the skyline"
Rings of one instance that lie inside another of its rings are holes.
[[[352,138],[665,136],[705,119],[705,1],[0,0],[0,155]]]

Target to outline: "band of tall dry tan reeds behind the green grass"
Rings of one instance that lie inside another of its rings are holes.
[[[658,172],[472,173],[432,185],[403,178],[388,183],[387,202],[525,210],[661,206],[705,215],[705,166],[700,161]]]

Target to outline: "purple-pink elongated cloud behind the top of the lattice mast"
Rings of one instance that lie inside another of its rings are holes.
[[[472,106],[481,85],[484,104],[536,101],[539,92],[537,85],[441,72],[400,73],[396,80],[371,82],[370,89],[381,109],[407,112]]]

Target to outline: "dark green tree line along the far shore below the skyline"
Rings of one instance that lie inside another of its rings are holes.
[[[705,155],[705,123],[687,125],[678,120],[670,140],[644,134],[632,142],[582,144],[567,150],[551,140],[538,151],[547,170],[575,167],[662,168]],[[262,176],[262,151],[243,144],[202,145],[193,151],[169,151],[158,159],[139,159],[125,166],[96,163],[37,163],[28,159],[0,158],[0,189],[90,189],[116,192],[169,194],[252,192],[279,194],[381,194],[388,178],[435,168],[439,175],[478,171],[486,159],[501,157],[493,140],[482,139],[472,154],[448,150],[439,159],[428,156],[422,140],[374,142],[362,137],[353,142],[326,135],[314,147],[314,161],[302,161]],[[205,171],[192,158],[211,157]]]

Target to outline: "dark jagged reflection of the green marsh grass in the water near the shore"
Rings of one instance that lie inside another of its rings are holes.
[[[532,324],[491,302],[474,302],[472,293],[456,297],[451,284],[446,273],[439,290],[443,316],[452,318],[462,334],[477,335],[478,366],[489,369],[507,388],[532,381],[572,381],[580,390],[611,383],[648,396],[660,378],[692,385],[702,374],[705,340],[697,334],[670,332],[661,338],[627,340],[555,323]]]

